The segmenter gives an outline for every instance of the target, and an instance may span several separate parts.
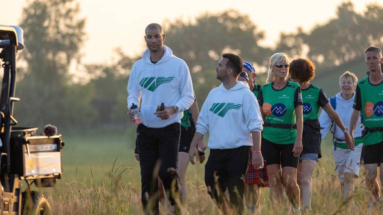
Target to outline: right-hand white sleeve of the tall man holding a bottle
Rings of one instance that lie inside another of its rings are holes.
[[[181,66],[182,75],[179,86],[181,89],[181,98],[176,103],[176,106],[179,108],[180,112],[189,109],[194,103],[192,77],[190,75],[188,65],[186,65],[185,62],[183,63],[184,64]]]

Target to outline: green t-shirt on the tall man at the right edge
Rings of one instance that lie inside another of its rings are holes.
[[[383,127],[383,82],[370,83],[369,77],[358,82],[354,109],[362,110],[365,127]],[[383,131],[369,132],[363,137],[364,145],[374,145],[383,141]]]

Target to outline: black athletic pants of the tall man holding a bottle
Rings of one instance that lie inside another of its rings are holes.
[[[179,196],[177,163],[180,126],[180,123],[173,123],[163,128],[150,128],[140,124],[137,128],[142,183],[141,199],[146,213],[151,211],[159,214],[158,176],[163,181],[172,205],[175,205],[175,196],[171,192],[172,186],[175,195]],[[156,171],[157,163],[159,163],[159,169]]]

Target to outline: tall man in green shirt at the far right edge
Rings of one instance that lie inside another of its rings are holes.
[[[364,163],[366,183],[371,194],[370,206],[380,202],[378,167],[383,185],[383,74],[382,50],[370,46],[365,50],[365,60],[369,67],[368,77],[360,80],[357,85],[354,110],[350,119],[350,135],[353,136],[359,113],[362,110],[365,130],[362,132],[364,144]]]

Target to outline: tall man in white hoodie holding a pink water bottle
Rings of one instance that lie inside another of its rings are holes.
[[[142,123],[137,127],[137,144],[142,204],[146,214],[159,214],[157,174],[163,181],[171,205],[176,205],[175,198],[179,198],[176,170],[180,123],[183,111],[194,102],[189,68],[164,45],[165,36],[162,26],[157,23],[146,27],[148,48],[142,59],[133,65],[128,82],[128,114],[132,121],[131,108],[138,106],[142,99]],[[165,108],[157,110],[162,103]]]

